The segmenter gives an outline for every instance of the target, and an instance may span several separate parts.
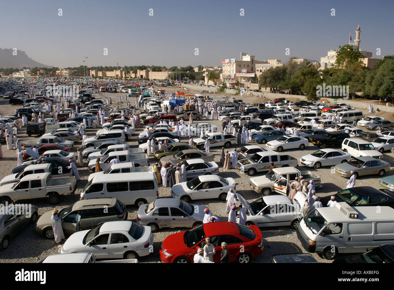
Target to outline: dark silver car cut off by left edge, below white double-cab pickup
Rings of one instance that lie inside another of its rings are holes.
[[[4,204],[2,205],[4,206]],[[14,205],[3,207],[0,214],[0,249],[5,250],[9,245],[9,239],[13,238],[20,230],[29,223],[35,223],[38,216],[37,206]]]

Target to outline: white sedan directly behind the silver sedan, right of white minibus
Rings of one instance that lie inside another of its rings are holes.
[[[226,200],[227,193],[232,188],[235,190],[234,178],[222,178],[217,175],[200,175],[187,182],[181,182],[173,185],[171,196],[179,198],[184,202],[196,199],[219,198]]]

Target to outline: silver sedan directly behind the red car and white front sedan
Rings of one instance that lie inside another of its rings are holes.
[[[138,209],[137,223],[159,228],[192,228],[203,224],[205,206],[189,204],[177,198],[158,198]]]

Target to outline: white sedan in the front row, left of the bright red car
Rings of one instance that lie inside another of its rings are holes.
[[[96,259],[137,259],[149,255],[151,245],[153,234],[150,226],[132,221],[109,221],[91,230],[72,234],[61,247],[61,254],[89,252]]]

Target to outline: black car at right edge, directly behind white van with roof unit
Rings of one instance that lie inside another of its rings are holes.
[[[358,186],[338,191],[337,202],[346,202],[349,206],[390,206],[394,208],[394,193],[388,189],[375,189],[370,186]],[[323,206],[327,206],[331,196],[320,198]]]

